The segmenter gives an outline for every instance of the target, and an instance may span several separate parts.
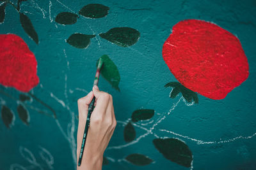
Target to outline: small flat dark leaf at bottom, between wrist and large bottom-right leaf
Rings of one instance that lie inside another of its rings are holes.
[[[152,159],[146,157],[145,155],[141,155],[140,153],[133,153],[128,155],[125,159],[136,166],[146,166],[153,162]]]

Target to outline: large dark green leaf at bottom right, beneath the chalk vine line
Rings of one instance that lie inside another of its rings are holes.
[[[190,167],[193,155],[188,145],[175,138],[154,139],[153,143],[157,150],[163,154],[166,159],[171,160],[184,167]]]

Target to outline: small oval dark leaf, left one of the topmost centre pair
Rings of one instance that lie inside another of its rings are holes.
[[[56,16],[55,22],[63,25],[71,25],[76,23],[77,18],[78,15],[76,13],[61,12]]]

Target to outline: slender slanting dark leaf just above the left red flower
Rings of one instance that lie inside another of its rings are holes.
[[[36,44],[38,44],[38,36],[36,31],[31,23],[31,20],[24,13],[20,13],[20,24],[28,36],[32,38]]]

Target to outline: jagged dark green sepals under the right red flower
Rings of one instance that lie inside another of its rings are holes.
[[[164,85],[164,87],[173,87],[172,93],[170,95],[171,98],[174,99],[181,92],[182,96],[184,99],[186,99],[186,101],[188,101],[188,103],[195,101],[195,103],[198,104],[199,99],[196,92],[189,90],[179,82],[170,82]]]

